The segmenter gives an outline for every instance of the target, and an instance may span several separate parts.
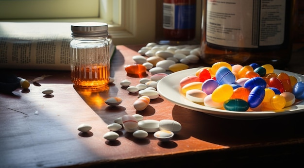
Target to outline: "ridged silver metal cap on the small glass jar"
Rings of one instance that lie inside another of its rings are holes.
[[[78,22],[71,25],[75,37],[107,37],[108,24],[102,22]]]

